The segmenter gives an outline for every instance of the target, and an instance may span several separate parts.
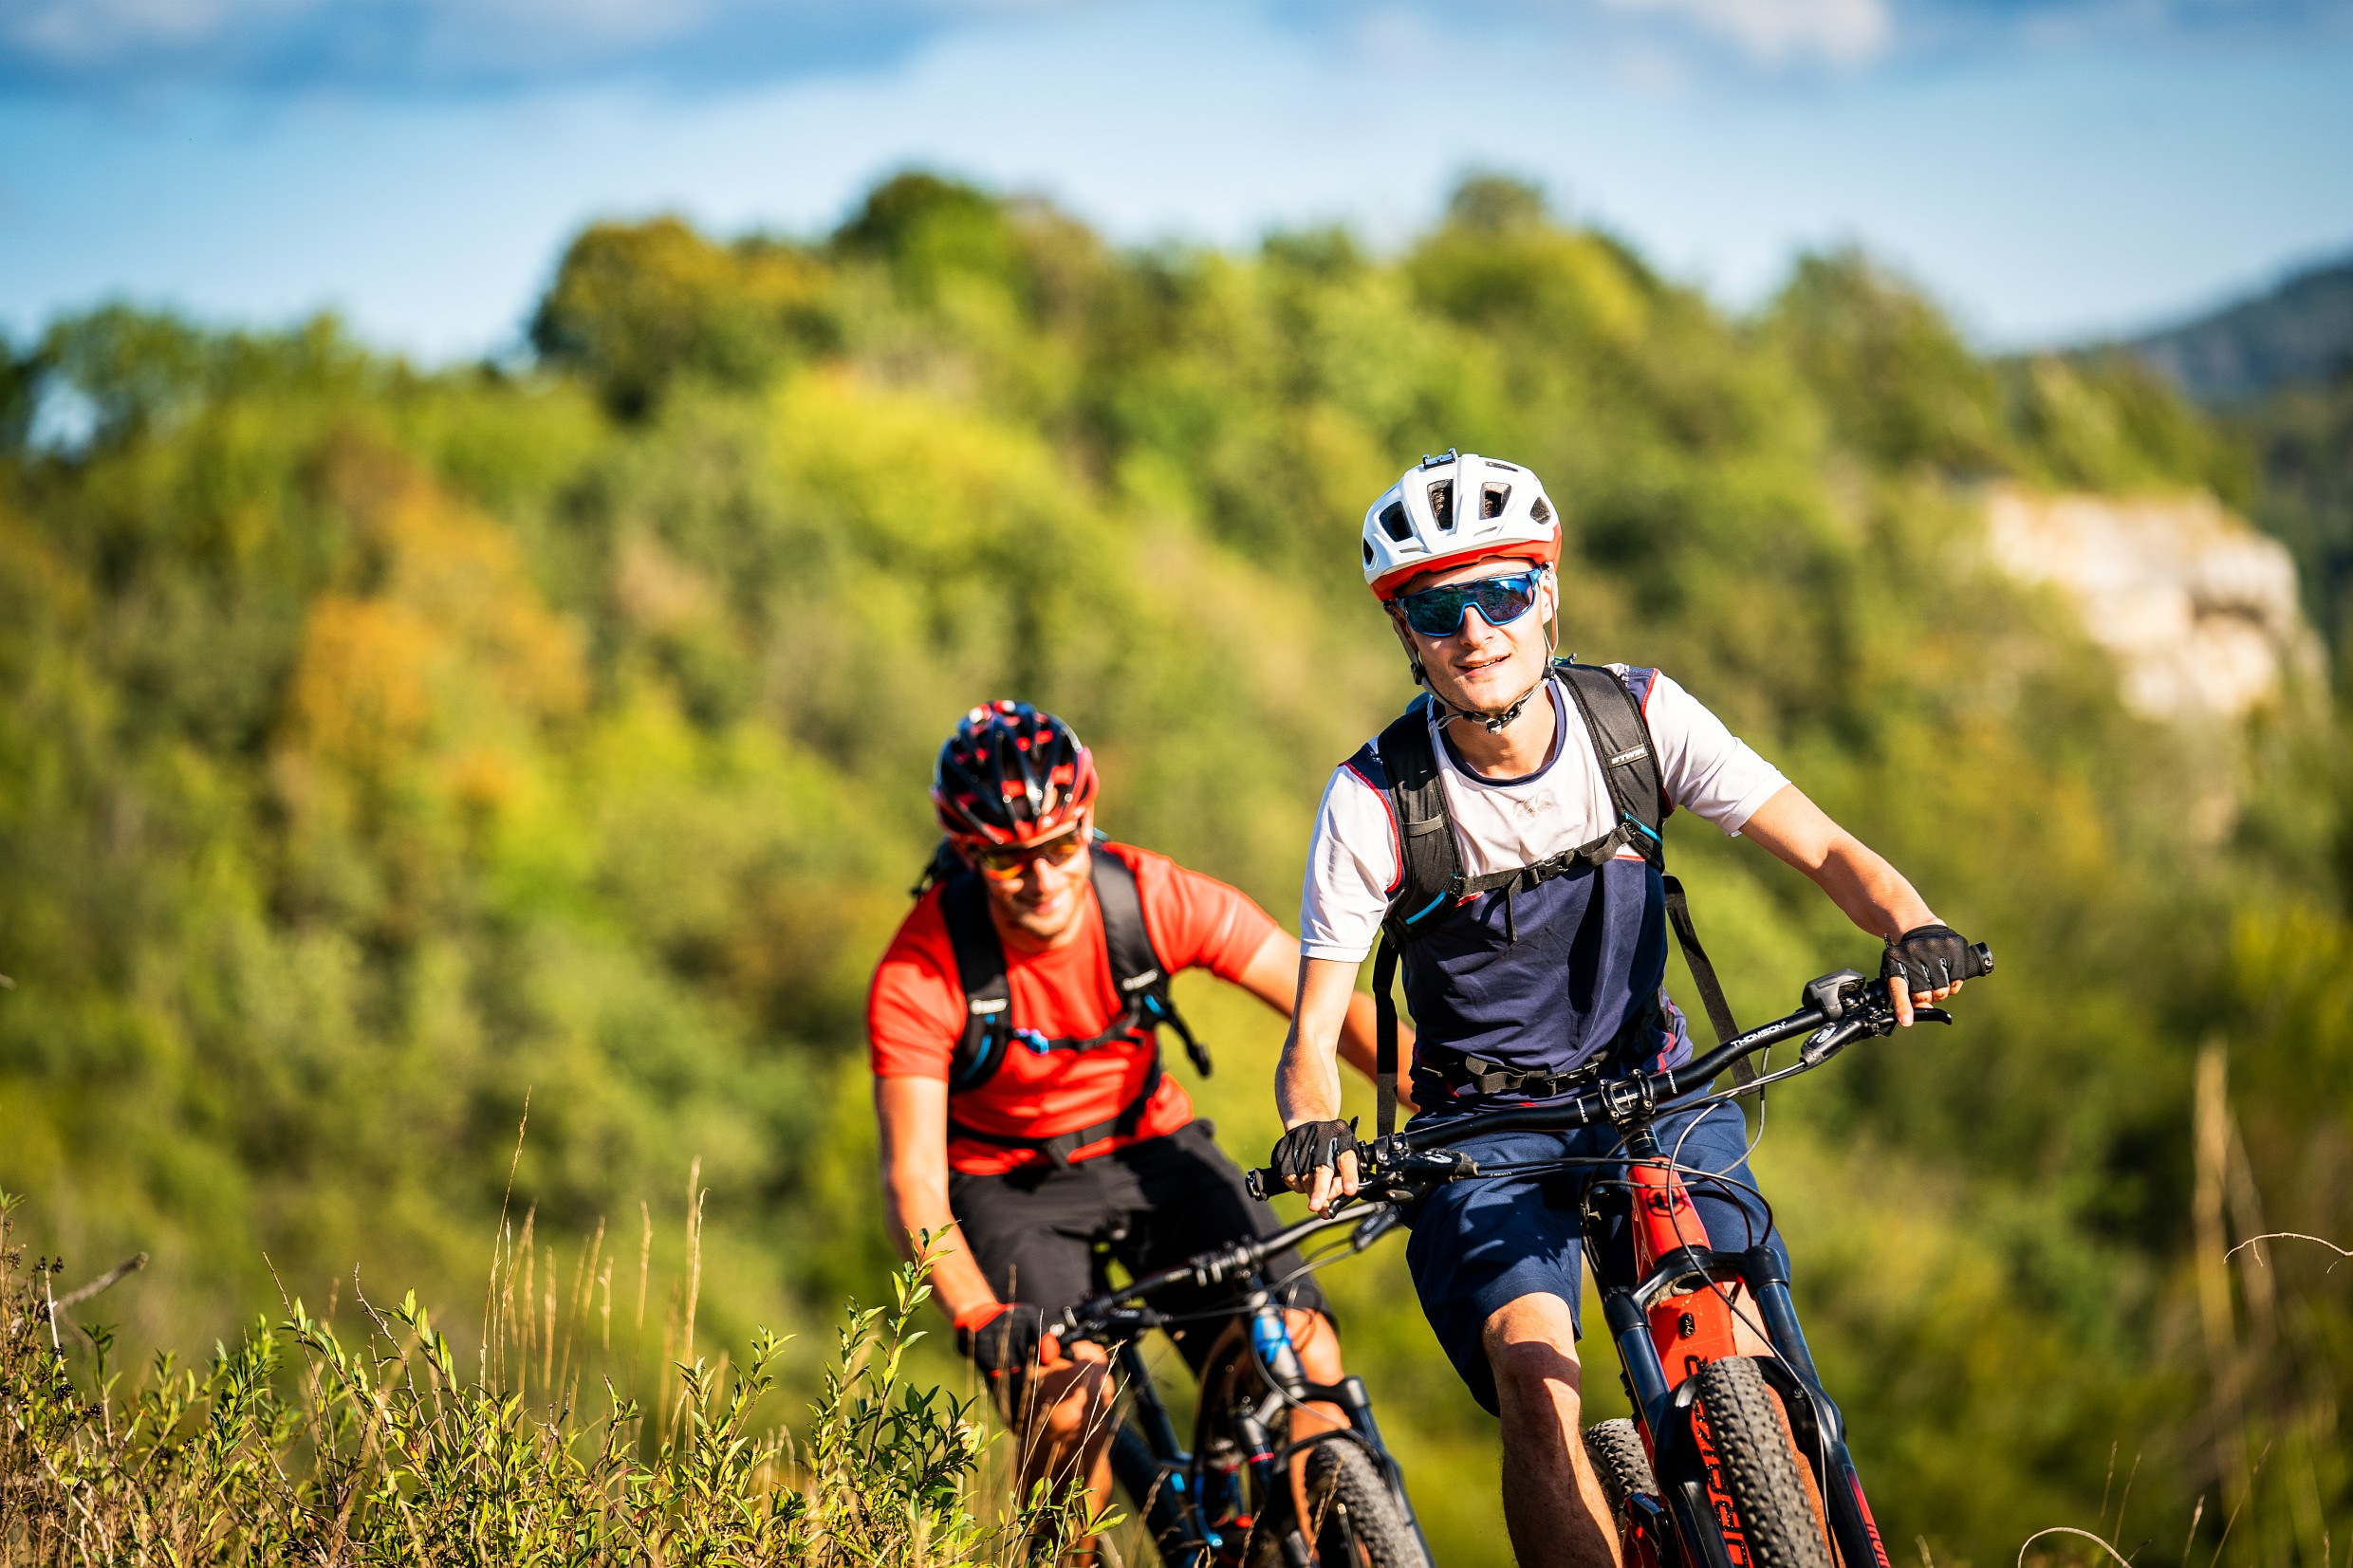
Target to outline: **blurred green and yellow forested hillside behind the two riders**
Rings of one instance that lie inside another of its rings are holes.
[[[736,1347],[873,1300],[861,1004],[939,738],[1054,708],[1115,837],[1294,924],[1327,771],[1409,696],[1362,510],[1461,447],[1551,487],[1565,649],[1666,668],[2000,954],[1758,1150],[1892,1549],[2353,1540],[2353,1269],[2228,1251],[2353,1244],[2341,682],[2151,717],[1986,534],[2264,512],[2134,362],[1988,362],[1854,254],[1734,320],[1497,179],[1398,254],[1118,249],[922,174],[824,237],[595,226],[529,339],[421,371],[104,308],[7,355],[0,1187],[61,1284],[151,1255],[80,1309],[118,1363],[280,1291],[414,1286],[464,1347],[501,1213],[546,1279],[605,1237],[645,1361],[687,1293]],[[1762,853],[1668,849],[1744,1018],[1875,964]],[[1259,1154],[1280,1025],[1186,987]],[[1402,1248],[1325,1284],[1440,1561],[1504,1561]]]

